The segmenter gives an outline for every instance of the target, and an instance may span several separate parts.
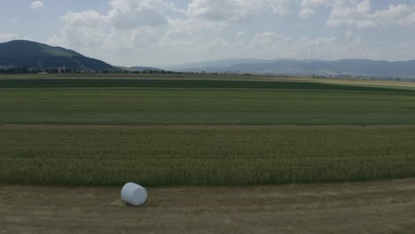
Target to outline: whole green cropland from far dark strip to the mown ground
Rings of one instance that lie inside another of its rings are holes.
[[[264,76],[0,77],[0,183],[415,176],[415,90]]]

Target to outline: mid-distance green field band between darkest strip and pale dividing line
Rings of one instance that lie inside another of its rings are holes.
[[[315,90],[0,89],[0,124],[415,124],[415,97]]]

